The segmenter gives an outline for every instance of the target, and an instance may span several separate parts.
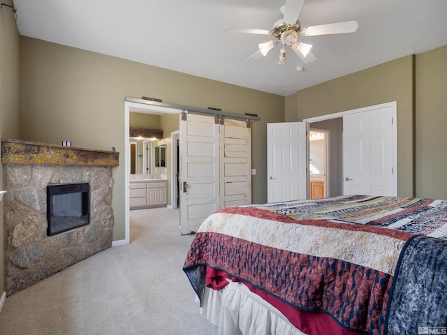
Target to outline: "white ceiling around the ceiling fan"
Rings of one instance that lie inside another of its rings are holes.
[[[447,45],[447,0],[307,0],[303,27],[357,20],[353,34],[302,37],[316,61],[245,61],[286,0],[14,0],[20,34],[287,96],[314,84]],[[6,8],[3,7],[3,10]],[[305,66],[298,72],[297,66]]]

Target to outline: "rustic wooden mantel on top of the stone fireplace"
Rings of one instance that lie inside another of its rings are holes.
[[[119,152],[2,139],[1,163],[118,166]]]

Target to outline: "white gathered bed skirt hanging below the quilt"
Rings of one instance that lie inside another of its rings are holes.
[[[205,288],[200,313],[219,326],[219,335],[306,335],[242,283],[230,282],[218,291]]]

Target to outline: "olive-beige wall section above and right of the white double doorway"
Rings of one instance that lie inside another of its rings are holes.
[[[297,120],[397,101],[397,190],[413,196],[413,56],[297,92]]]

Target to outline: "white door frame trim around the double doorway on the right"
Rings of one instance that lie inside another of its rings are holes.
[[[306,124],[306,129],[309,131],[310,124],[317,121],[325,121],[330,119],[337,119],[339,117],[344,117],[345,115],[367,112],[372,109],[379,109],[384,107],[391,107],[393,112],[393,189],[394,196],[397,196],[397,101],[391,101],[389,103],[381,103],[379,105],[371,105],[367,107],[356,108],[354,110],[346,110],[344,112],[337,112],[332,114],[321,115],[320,117],[311,117],[308,119],[303,119],[302,121]],[[309,152],[309,140],[307,140],[307,152]],[[307,171],[309,178],[309,171]]]

